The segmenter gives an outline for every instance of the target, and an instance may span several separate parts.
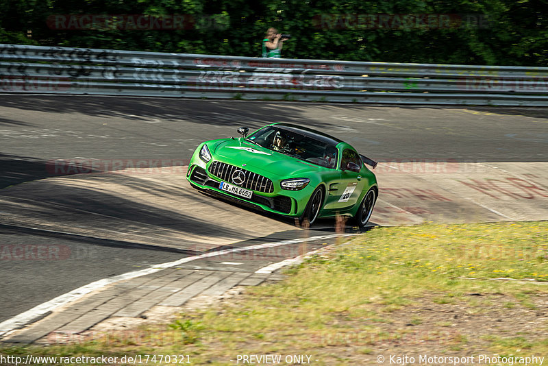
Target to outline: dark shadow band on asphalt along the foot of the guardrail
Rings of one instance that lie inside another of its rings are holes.
[[[241,102],[240,102],[241,103]],[[310,121],[302,116],[301,110],[306,108],[321,108],[321,104],[310,106],[295,103],[286,103],[280,108],[277,103],[261,103],[246,101],[246,108],[241,108],[237,101],[199,100],[199,99],[175,99],[175,98],[117,98],[112,103],[111,98],[92,96],[60,96],[60,95],[29,95],[0,96],[0,106],[18,108],[21,110],[33,110],[38,112],[50,112],[55,114],[79,113],[91,117],[121,117],[135,121],[150,121],[161,119],[162,121],[180,121],[185,119],[192,123],[210,124],[221,121],[223,125],[247,125],[251,128],[262,127],[265,123],[290,122],[306,123],[316,127],[326,127],[325,123]],[[284,101],[279,101],[284,103]],[[252,108],[247,108],[251,104]],[[361,108],[360,106],[348,106],[347,108]],[[269,120],[270,122],[266,121]],[[0,119],[0,123],[2,123]],[[29,125],[15,120],[5,120],[5,123]]]

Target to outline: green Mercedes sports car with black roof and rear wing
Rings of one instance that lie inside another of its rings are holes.
[[[247,136],[201,143],[188,164],[190,184],[212,195],[297,217],[345,215],[364,226],[379,193],[376,162],[321,132],[288,123]]]

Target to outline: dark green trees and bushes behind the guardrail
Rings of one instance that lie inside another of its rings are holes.
[[[0,42],[255,57],[266,29],[277,27],[292,34],[284,58],[545,66],[546,6],[545,0],[3,0]],[[51,19],[63,14],[184,14],[190,23],[184,29],[55,29]],[[470,14],[471,21],[366,27],[348,25],[340,14]]]

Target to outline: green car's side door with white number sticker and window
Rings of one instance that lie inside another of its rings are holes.
[[[349,163],[355,164],[353,168],[357,171],[348,169]],[[358,202],[366,180],[362,179],[363,162],[358,153],[353,149],[343,149],[340,160],[340,182],[338,183],[338,199],[333,204],[333,208],[344,211],[351,208]]]

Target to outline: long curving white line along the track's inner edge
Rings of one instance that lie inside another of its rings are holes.
[[[249,247],[224,249],[218,252],[209,252],[209,253],[200,254],[199,256],[190,256],[186,258],[181,258],[179,260],[175,260],[174,262],[167,262],[167,263],[161,263],[159,265],[153,265],[150,268],[141,269],[140,271],[127,272],[118,276],[103,278],[102,280],[91,282],[90,284],[86,284],[82,287],[79,287],[78,289],[65,293],[64,295],[55,297],[54,299],[51,299],[48,302],[35,306],[34,308],[27,310],[24,313],[21,313],[19,315],[16,315],[15,317],[12,317],[11,319],[3,321],[2,323],[0,323],[0,337],[5,336],[9,332],[12,332],[12,330],[23,328],[23,326],[29,324],[34,319],[37,319],[38,317],[43,317],[44,315],[55,310],[56,308],[59,308],[60,306],[63,306],[65,304],[69,304],[69,302],[74,302],[75,300],[78,300],[79,298],[83,297],[87,293],[90,293],[97,289],[101,289],[102,287],[105,287],[109,284],[113,284],[115,282],[129,280],[131,278],[136,278],[140,276],[146,276],[147,274],[162,271],[162,269],[175,267],[177,265],[182,265],[183,263],[188,263],[192,260],[197,260],[202,258],[210,258],[213,256],[221,256],[223,254],[245,252],[247,250],[279,247],[281,245],[290,245],[290,244],[296,244],[296,243],[304,243],[306,241],[325,240],[325,239],[337,238],[340,236],[351,236],[351,235],[355,235],[355,234],[331,234],[331,235],[310,236],[308,238],[302,238],[302,239],[293,239],[293,240],[286,240],[286,241],[278,241],[275,243],[250,245]]]

